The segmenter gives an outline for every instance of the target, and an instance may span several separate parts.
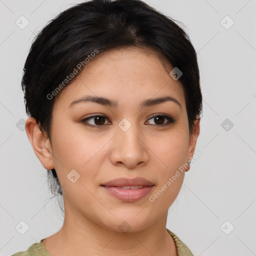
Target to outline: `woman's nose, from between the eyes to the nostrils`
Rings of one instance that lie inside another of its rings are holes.
[[[126,168],[141,167],[148,162],[148,147],[142,131],[135,124],[124,131],[117,127],[113,137],[110,160],[114,165],[124,165]]]

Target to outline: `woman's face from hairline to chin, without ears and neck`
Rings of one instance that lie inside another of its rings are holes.
[[[168,68],[150,49],[110,50],[56,98],[47,168],[57,172],[69,217],[138,231],[166,214],[195,146],[184,90]]]

